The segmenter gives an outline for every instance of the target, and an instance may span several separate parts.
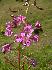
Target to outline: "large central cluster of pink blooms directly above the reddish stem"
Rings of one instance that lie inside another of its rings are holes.
[[[33,36],[33,34],[32,34],[33,31],[34,31],[34,29],[32,28],[32,25],[26,24],[23,28],[23,32],[21,32],[19,36],[17,34],[14,35],[15,36],[15,41],[22,43],[23,46],[30,46],[31,42],[33,40],[35,42],[38,42],[39,36],[38,35]]]

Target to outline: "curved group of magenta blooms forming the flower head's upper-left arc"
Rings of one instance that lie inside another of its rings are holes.
[[[13,34],[12,28],[17,27],[23,22],[23,20],[26,19],[25,16],[21,16],[21,15],[19,15],[18,17],[11,15],[11,17],[13,17],[13,20],[11,22],[9,21],[6,23],[6,31],[4,33],[4,35],[6,36],[11,36]]]

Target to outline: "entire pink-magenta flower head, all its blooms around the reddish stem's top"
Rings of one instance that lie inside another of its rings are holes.
[[[5,31],[6,36],[11,36],[13,34],[12,24],[14,24],[15,26],[18,26],[21,23],[23,23],[26,19],[25,16],[21,16],[21,15],[19,15],[18,17],[13,16],[13,15],[11,15],[11,16],[13,18],[12,22],[9,21],[9,22],[6,23],[6,31]],[[40,29],[41,28],[41,24],[39,23],[39,21],[37,21],[35,23],[34,28],[35,29]],[[15,37],[14,41],[17,42],[17,43],[18,42],[21,43],[23,46],[30,46],[33,41],[38,42],[39,41],[39,35],[36,34],[36,33],[33,34],[34,28],[32,27],[31,24],[25,23],[25,25],[23,27],[23,31],[19,35],[18,34],[14,35],[14,37]],[[4,47],[2,49],[2,52],[8,51],[8,50],[10,50],[9,44],[4,45]]]

